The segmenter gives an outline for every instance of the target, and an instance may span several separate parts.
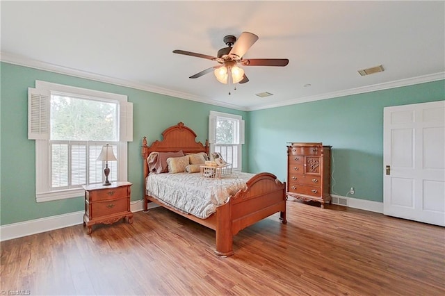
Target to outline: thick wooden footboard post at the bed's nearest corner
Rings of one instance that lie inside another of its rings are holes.
[[[216,250],[219,256],[232,256],[233,233],[232,233],[232,202],[223,204],[216,208]]]

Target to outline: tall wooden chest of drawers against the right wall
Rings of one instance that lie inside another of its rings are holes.
[[[287,195],[302,201],[331,202],[331,146],[291,142],[287,146]]]

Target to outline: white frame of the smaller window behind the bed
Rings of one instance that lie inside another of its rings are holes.
[[[220,146],[227,147],[227,146],[236,146],[237,147],[237,155],[236,158],[238,159],[238,162],[236,163],[236,166],[232,164],[233,170],[236,172],[241,172],[243,170],[243,144],[244,144],[244,138],[245,138],[245,123],[243,120],[243,117],[241,115],[235,115],[231,113],[222,113],[217,111],[210,111],[209,113],[209,145],[210,145],[210,152],[215,151],[215,147],[218,146],[216,143],[216,120],[218,120],[218,117],[221,118],[227,118],[230,120],[235,120],[238,122],[238,131],[235,131],[236,138],[238,143],[234,144],[221,144]],[[227,160],[226,160],[227,161]]]

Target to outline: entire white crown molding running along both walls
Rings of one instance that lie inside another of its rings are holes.
[[[159,88],[155,85],[145,85],[142,83],[135,83],[133,81],[127,81],[124,79],[117,79],[114,77],[103,76],[103,75],[99,75],[99,74],[85,72],[85,71],[81,71],[79,69],[72,69],[69,67],[62,67],[59,65],[44,63],[39,60],[32,60],[30,58],[24,58],[22,56],[16,56],[16,55],[9,54],[6,52],[0,52],[0,60],[4,63],[10,63],[13,65],[31,67],[34,69],[55,72],[58,74],[75,76],[75,77],[79,77],[82,79],[90,79],[93,81],[111,83],[111,84],[123,86],[126,88],[134,88],[136,90],[144,90],[147,92],[154,92],[156,94],[164,94],[166,96],[176,97],[179,99],[188,99],[190,101],[197,101],[197,102],[204,103],[204,104],[210,104],[210,105],[220,106],[220,107],[225,107],[225,108],[232,108],[232,109],[241,110],[241,111],[254,111],[254,110],[277,108],[277,107],[282,107],[282,106],[307,103],[309,101],[319,101],[322,99],[333,99],[336,97],[345,97],[345,96],[349,96],[349,95],[353,95],[353,94],[363,94],[366,92],[375,92],[378,90],[387,90],[390,88],[400,88],[402,86],[415,85],[415,84],[419,84],[419,83],[428,83],[428,82],[432,82],[432,81],[439,81],[439,80],[445,79],[445,72],[439,72],[439,73],[435,73],[435,74],[417,76],[417,77],[412,77],[412,78],[408,78],[408,79],[401,79],[398,81],[391,81],[391,82],[387,82],[387,83],[378,83],[378,84],[374,84],[374,85],[367,85],[367,86],[360,87],[360,88],[350,88],[348,90],[341,90],[338,92],[328,92],[325,94],[318,94],[316,96],[302,97],[302,98],[297,98],[297,99],[289,99],[286,101],[281,101],[280,103],[276,103],[276,104],[243,107],[243,106],[238,106],[238,105],[234,105],[234,104],[223,103],[221,101],[215,101],[213,99],[209,99],[209,98],[205,98],[205,97],[195,96],[193,94],[188,94],[186,92],[177,92],[175,90]]]

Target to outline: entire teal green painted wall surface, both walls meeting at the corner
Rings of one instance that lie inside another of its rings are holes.
[[[125,88],[29,67],[0,64],[0,225],[83,210],[82,197],[35,202],[35,142],[28,140],[28,88],[35,80],[125,94],[133,102],[133,142],[129,142],[131,199],[143,197],[141,139],[161,140],[177,122],[208,135],[210,110],[242,115],[246,145],[243,167],[286,179],[286,142],[332,145],[334,194],[382,202],[383,108],[445,99],[445,81],[243,112],[143,90]]]

